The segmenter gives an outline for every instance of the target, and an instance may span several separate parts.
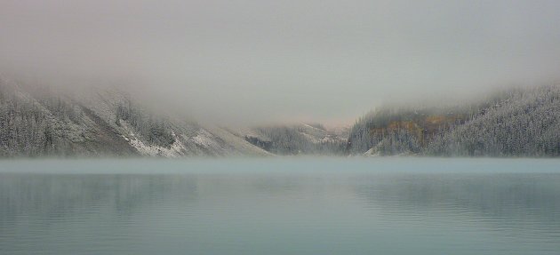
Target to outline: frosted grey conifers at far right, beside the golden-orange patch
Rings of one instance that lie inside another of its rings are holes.
[[[444,132],[429,155],[560,155],[560,86],[510,92],[467,124]]]

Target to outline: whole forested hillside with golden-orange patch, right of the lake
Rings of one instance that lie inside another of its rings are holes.
[[[452,108],[380,108],[359,119],[352,155],[560,155],[560,86],[511,89]]]

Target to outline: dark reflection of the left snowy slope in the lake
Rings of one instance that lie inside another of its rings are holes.
[[[119,217],[173,199],[196,200],[196,176],[0,174],[0,229],[18,217],[64,219],[110,209]],[[171,195],[173,197],[171,198]],[[51,220],[44,220],[50,222]]]

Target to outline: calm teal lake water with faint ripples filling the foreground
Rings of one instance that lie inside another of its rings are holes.
[[[560,161],[2,161],[0,254],[560,254]]]

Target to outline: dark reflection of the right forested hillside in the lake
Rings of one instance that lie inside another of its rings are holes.
[[[548,226],[560,219],[559,184],[554,173],[409,174],[362,179],[356,194],[390,213],[464,211]]]

